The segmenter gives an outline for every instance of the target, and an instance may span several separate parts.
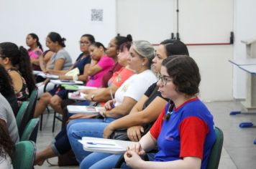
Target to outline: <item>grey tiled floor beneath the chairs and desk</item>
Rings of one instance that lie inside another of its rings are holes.
[[[242,110],[240,102],[206,102],[207,107],[214,115],[215,125],[224,132],[224,146],[221,153],[219,169],[247,169],[256,168],[256,128],[240,128],[240,122],[256,122],[256,115],[229,115],[233,110]],[[52,114],[44,115],[42,131],[38,132],[37,150],[44,149],[60,130],[60,122],[55,125],[52,133]],[[57,163],[58,158],[51,158],[51,163]],[[78,168],[50,166],[46,162],[35,169]]]

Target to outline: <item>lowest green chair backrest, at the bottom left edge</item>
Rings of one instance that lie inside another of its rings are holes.
[[[14,169],[31,169],[34,165],[35,143],[32,141],[22,141],[15,145],[14,157],[12,158],[12,165]]]

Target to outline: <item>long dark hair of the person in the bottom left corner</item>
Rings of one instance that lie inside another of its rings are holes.
[[[0,156],[6,158],[6,153],[12,158],[14,155],[15,145],[9,135],[6,124],[0,121]]]

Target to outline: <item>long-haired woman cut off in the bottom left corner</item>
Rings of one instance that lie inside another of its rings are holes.
[[[8,129],[0,122],[0,168],[12,168],[15,145]]]

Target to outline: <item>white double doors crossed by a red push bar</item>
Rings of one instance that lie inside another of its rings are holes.
[[[117,5],[117,32],[157,44],[176,32],[176,1],[122,0]],[[233,31],[232,0],[179,1],[179,33],[186,44],[229,42]],[[201,70],[202,100],[232,100],[233,46],[188,46]]]

